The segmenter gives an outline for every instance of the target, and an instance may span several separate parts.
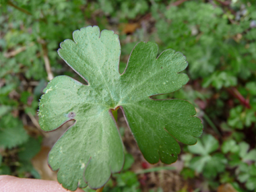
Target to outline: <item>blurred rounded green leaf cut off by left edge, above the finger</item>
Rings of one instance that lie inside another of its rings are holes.
[[[0,147],[13,148],[28,140],[22,121],[5,115],[0,121]]]

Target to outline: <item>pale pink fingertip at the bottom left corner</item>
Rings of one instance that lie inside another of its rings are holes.
[[[57,181],[46,181],[40,179],[21,179],[9,175],[0,175],[1,192],[68,192]],[[84,192],[77,189],[75,192]]]

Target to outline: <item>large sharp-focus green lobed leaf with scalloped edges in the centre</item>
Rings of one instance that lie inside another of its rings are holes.
[[[177,140],[193,145],[202,132],[195,108],[185,100],[153,100],[150,96],[182,88],[189,78],[180,73],[185,57],[168,49],[156,58],[158,46],[139,42],[127,69],[119,73],[120,42],[113,31],[97,26],[73,32],[61,43],[59,55],[88,82],[84,85],[67,76],[55,77],[40,100],[39,123],[53,131],[75,123],[55,143],[49,164],[58,170],[63,187],[75,190],[104,185],[111,173],[121,171],[123,143],[111,109],[121,108],[146,160],[170,164],[177,160]],[[177,139],[177,140],[176,140]]]

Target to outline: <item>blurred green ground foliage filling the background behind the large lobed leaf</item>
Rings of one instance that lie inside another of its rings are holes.
[[[189,84],[155,96],[189,100],[205,125],[197,145],[183,150],[184,179],[201,181],[208,191],[222,183],[237,191],[256,191],[255,1],[177,2],[1,0],[0,174],[40,177],[30,160],[40,150],[43,135],[28,127],[37,129],[37,103],[49,82],[45,63],[48,59],[53,75],[83,82],[61,61],[57,49],[74,30],[97,25],[119,34],[120,71],[138,41],[152,40],[159,44],[159,53],[170,48],[187,57]],[[137,174],[129,170],[133,158],[127,162],[105,190],[140,190]]]

